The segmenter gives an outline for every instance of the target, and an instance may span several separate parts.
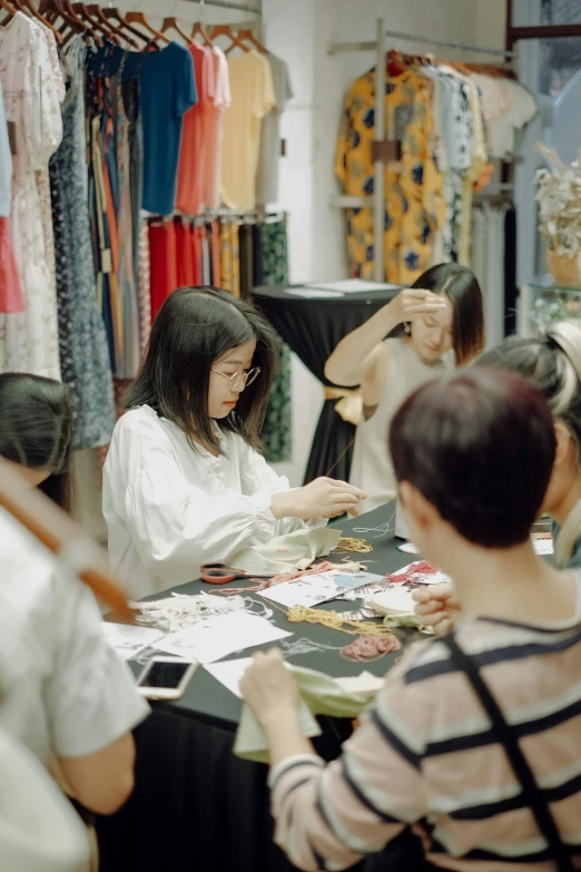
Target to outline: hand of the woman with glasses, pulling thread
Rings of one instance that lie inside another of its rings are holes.
[[[358,504],[367,494],[335,479],[315,479],[304,488],[273,496],[272,512],[275,518],[338,518],[347,512],[352,518],[358,515]]]

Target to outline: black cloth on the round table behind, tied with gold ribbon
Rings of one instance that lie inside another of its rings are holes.
[[[296,290],[296,288],[290,288]],[[293,296],[287,288],[258,287],[254,302],[283,340],[323,384],[325,363],[341,340],[361,326],[397,293],[371,291],[321,300]],[[335,412],[336,400],[326,400],[318,420],[305,473],[305,483],[326,476],[355,435],[355,428]],[[333,477],[348,480],[352,451],[345,451]]]

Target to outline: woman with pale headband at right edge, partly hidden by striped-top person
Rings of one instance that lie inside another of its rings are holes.
[[[562,322],[538,339],[510,336],[475,365],[522,375],[549,403],[557,451],[542,509],[553,520],[555,565],[581,568],[581,327]],[[450,631],[460,618],[447,585],[418,590],[414,597],[417,614],[439,634]]]

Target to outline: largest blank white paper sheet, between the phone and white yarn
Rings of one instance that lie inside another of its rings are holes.
[[[249,615],[247,611],[234,611],[207,618],[193,627],[166,636],[155,643],[154,647],[205,665],[221,660],[228,654],[266,645],[290,635],[269,624],[266,618]]]

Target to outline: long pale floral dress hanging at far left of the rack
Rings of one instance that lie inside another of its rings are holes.
[[[0,315],[0,372],[60,379],[47,194],[48,161],[62,138],[63,85],[49,41],[46,29],[21,12],[0,28],[0,80],[17,144],[11,233],[26,306],[21,313]]]

